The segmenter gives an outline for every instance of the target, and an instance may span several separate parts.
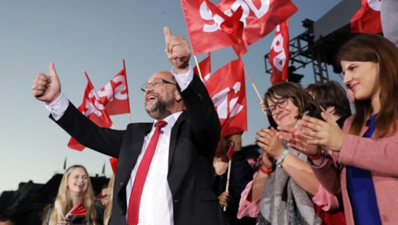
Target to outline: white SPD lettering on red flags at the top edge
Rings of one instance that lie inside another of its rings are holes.
[[[268,9],[270,8],[270,0],[255,0],[255,1],[260,1],[259,8],[256,7],[256,5],[253,3],[253,0],[235,0],[231,4],[231,9],[225,10],[224,14],[231,16],[232,10],[236,11],[239,8],[239,6],[242,6],[243,13],[242,16],[240,17],[240,21],[242,21],[243,26],[246,27],[247,25],[246,17],[250,14],[250,11],[254,13],[257,19],[260,19],[267,13]],[[210,22],[213,22],[212,24],[203,24],[203,32],[210,33],[210,32],[215,32],[217,30],[221,30],[220,25],[222,22],[224,22],[224,19],[219,15],[212,16],[212,13],[207,8],[205,2],[202,2],[200,4],[199,14],[203,20],[208,20]]]

